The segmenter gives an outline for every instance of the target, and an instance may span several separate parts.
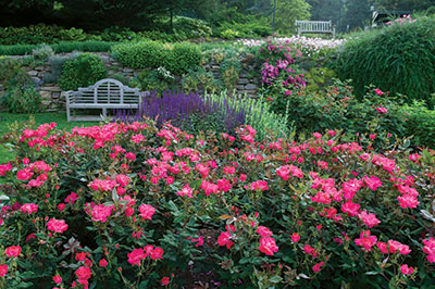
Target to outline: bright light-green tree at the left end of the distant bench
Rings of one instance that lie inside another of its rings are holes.
[[[304,0],[276,0],[275,13],[276,27],[281,32],[294,33],[296,20],[310,18],[310,4]]]

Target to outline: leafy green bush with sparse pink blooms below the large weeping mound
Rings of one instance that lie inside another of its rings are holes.
[[[372,142],[380,150],[389,149],[386,143],[395,143],[396,138],[409,137],[412,147],[435,148],[435,111],[424,102],[403,104],[386,92],[378,96],[373,86],[362,100],[347,83],[336,81],[326,92],[303,91],[287,101],[288,123],[295,125],[298,136],[335,127],[343,129],[349,141]]]

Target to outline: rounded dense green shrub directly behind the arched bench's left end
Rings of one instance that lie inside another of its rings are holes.
[[[59,85],[63,90],[87,87],[107,76],[104,63],[98,55],[83,53],[62,65]]]

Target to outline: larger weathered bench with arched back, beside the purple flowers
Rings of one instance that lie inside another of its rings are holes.
[[[138,109],[141,96],[138,88],[129,88],[121,81],[105,78],[95,85],[69,90],[66,97],[66,118],[71,121],[101,121],[101,116],[71,116],[71,109],[101,109],[102,116],[108,117],[108,109]]]

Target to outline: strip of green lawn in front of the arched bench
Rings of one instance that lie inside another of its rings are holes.
[[[36,125],[54,122],[60,129],[72,129],[75,126],[92,126],[98,125],[95,122],[66,122],[65,113],[35,113],[35,114],[14,114],[14,113],[0,113],[0,137],[9,133],[9,125],[18,122],[24,124],[30,117],[35,116]],[[11,154],[4,147],[0,146],[0,163],[13,160],[14,155]]]

